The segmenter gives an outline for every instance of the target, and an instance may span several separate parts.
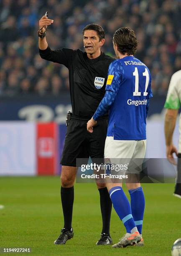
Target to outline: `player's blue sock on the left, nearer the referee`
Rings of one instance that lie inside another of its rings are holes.
[[[112,205],[115,208],[117,215],[125,225],[127,233],[134,233],[137,231],[133,216],[131,214],[130,203],[122,190],[122,187],[112,187],[109,193]]]

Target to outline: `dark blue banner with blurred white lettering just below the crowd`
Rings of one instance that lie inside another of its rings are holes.
[[[164,96],[150,99],[148,116],[160,114],[165,102]],[[22,95],[0,97],[0,120],[26,120],[31,122],[65,123],[66,113],[71,110],[68,93],[61,95]]]

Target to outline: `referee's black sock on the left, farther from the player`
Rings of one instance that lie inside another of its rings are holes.
[[[74,204],[74,186],[61,187],[61,204],[64,213],[64,228],[71,230],[72,212]]]

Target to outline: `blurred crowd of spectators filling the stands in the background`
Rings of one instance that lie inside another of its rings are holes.
[[[58,95],[69,91],[68,69],[41,59],[38,20],[54,20],[46,39],[51,49],[82,49],[82,29],[105,29],[102,51],[114,56],[117,28],[132,28],[139,41],[135,56],[152,75],[154,94],[166,95],[173,72],[181,69],[181,0],[1,0],[0,95]]]

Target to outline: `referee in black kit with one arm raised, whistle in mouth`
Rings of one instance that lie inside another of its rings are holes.
[[[54,21],[44,15],[39,20],[39,53],[41,58],[63,64],[69,69],[72,116],[66,132],[64,150],[61,156],[61,203],[64,213],[64,228],[55,244],[65,244],[73,238],[71,226],[74,203],[74,181],[76,178],[76,158],[103,159],[107,134],[106,113],[97,121],[94,133],[87,132],[87,121],[92,117],[105,95],[107,71],[115,60],[102,53],[100,48],[105,43],[105,32],[96,24],[83,29],[85,52],[77,49],[62,48],[52,51],[46,41],[46,28]],[[110,245],[110,216],[112,202],[106,185],[97,183],[100,194],[102,213],[102,233],[97,245]]]

